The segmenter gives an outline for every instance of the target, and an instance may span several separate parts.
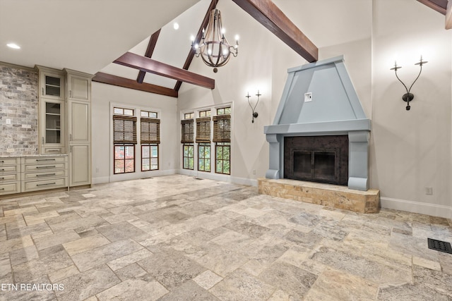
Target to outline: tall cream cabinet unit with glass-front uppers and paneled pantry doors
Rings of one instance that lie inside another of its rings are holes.
[[[93,75],[36,68],[40,75],[40,154],[69,154],[67,183],[59,180],[57,185],[90,185]]]

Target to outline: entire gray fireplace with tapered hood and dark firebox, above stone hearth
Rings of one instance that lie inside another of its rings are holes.
[[[343,56],[290,68],[273,124],[264,127],[270,150],[266,178],[366,191],[370,130]]]

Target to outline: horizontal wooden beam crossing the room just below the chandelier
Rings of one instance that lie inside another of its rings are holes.
[[[139,56],[138,54],[133,54],[131,52],[126,52],[113,63],[165,76],[166,78],[172,78],[174,80],[181,80],[182,82],[189,82],[190,84],[209,89],[215,88],[215,80],[213,80],[213,78],[207,78],[206,76],[189,72],[181,68],[176,68],[174,66],[167,65],[166,63],[160,63],[158,61],[154,61],[153,59],[146,58],[145,56]]]

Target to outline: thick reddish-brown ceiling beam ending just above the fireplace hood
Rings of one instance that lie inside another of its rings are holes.
[[[292,21],[270,0],[232,0],[267,27],[290,48],[309,62],[319,59],[319,49]]]

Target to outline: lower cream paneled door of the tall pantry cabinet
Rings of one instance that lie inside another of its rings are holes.
[[[72,145],[69,149],[70,183],[69,186],[91,183],[91,147],[90,145]]]

